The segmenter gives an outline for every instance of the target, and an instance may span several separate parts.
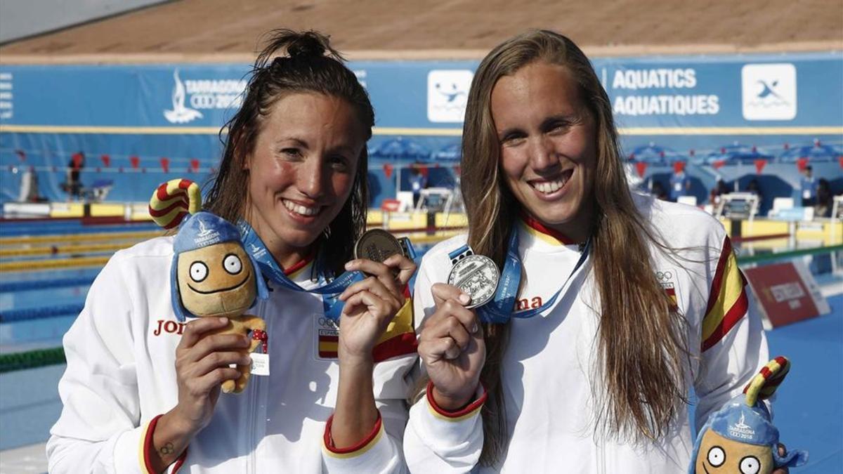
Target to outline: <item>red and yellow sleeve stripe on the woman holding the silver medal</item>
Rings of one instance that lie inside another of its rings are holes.
[[[714,346],[728,334],[749,308],[746,280],[738,268],[728,237],[717,261],[717,271],[711,282],[711,294],[702,320],[702,350]]]

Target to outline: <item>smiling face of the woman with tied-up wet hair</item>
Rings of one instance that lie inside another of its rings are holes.
[[[364,129],[346,100],[317,93],[289,94],[260,123],[246,159],[246,216],[282,265],[302,253],[348,200]]]

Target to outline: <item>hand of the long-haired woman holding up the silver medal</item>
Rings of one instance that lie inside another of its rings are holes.
[[[436,283],[431,288],[436,311],[425,321],[418,353],[433,383],[433,398],[454,411],[475,396],[486,361],[486,343],[471,298],[459,288]]]

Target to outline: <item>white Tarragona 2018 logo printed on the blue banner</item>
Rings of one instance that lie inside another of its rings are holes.
[[[164,110],[170,123],[189,123],[204,117],[202,110],[237,109],[243,101],[246,81],[241,79],[184,79],[173,72],[172,109]]]

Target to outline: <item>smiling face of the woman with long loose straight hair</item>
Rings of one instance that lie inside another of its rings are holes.
[[[588,238],[595,126],[566,67],[533,62],[500,78],[491,116],[507,187],[524,210],[573,240]]]

